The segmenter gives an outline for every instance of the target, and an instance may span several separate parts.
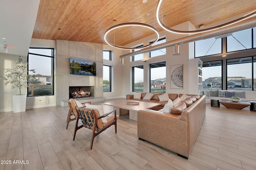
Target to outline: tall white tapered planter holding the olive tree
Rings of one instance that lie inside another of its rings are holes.
[[[13,113],[26,111],[26,98],[27,95],[13,95]]]

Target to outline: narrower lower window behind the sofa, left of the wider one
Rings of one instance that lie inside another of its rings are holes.
[[[132,67],[132,91],[143,92],[144,91],[144,76],[143,65]]]

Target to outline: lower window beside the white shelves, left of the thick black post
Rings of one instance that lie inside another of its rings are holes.
[[[203,63],[203,89],[222,89],[222,61]]]

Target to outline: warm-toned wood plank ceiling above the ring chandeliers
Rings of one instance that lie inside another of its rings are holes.
[[[106,44],[105,31],[126,22],[146,23],[162,31],[155,17],[157,2],[158,0],[148,0],[146,3],[142,3],[142,0],[40,0],[32,38]],[[163,0],[160,18],[168,27],[185,21],[198,27],[200,24],[208,25],[251,10],[256,10],[256,0]],[[153,31],[142,27],[124,27],[112,31],[108,40],[123,46],[152,34]]]

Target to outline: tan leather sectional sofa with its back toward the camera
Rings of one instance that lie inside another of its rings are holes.
[[[179,94],[179,97],[182,95]],[[174,96],[174,94],[169,96]],[[176,96],[178,97],[178,94]],[[130,95],[126,96],[126,98],[132,100]],[[143,101],[146,102],[145,100]],[[200,95],[200,98],[182,111],[181,115],[142,109],[138,111],[138,138],[188,158],[204,120],[205,108],[205,96]]]

